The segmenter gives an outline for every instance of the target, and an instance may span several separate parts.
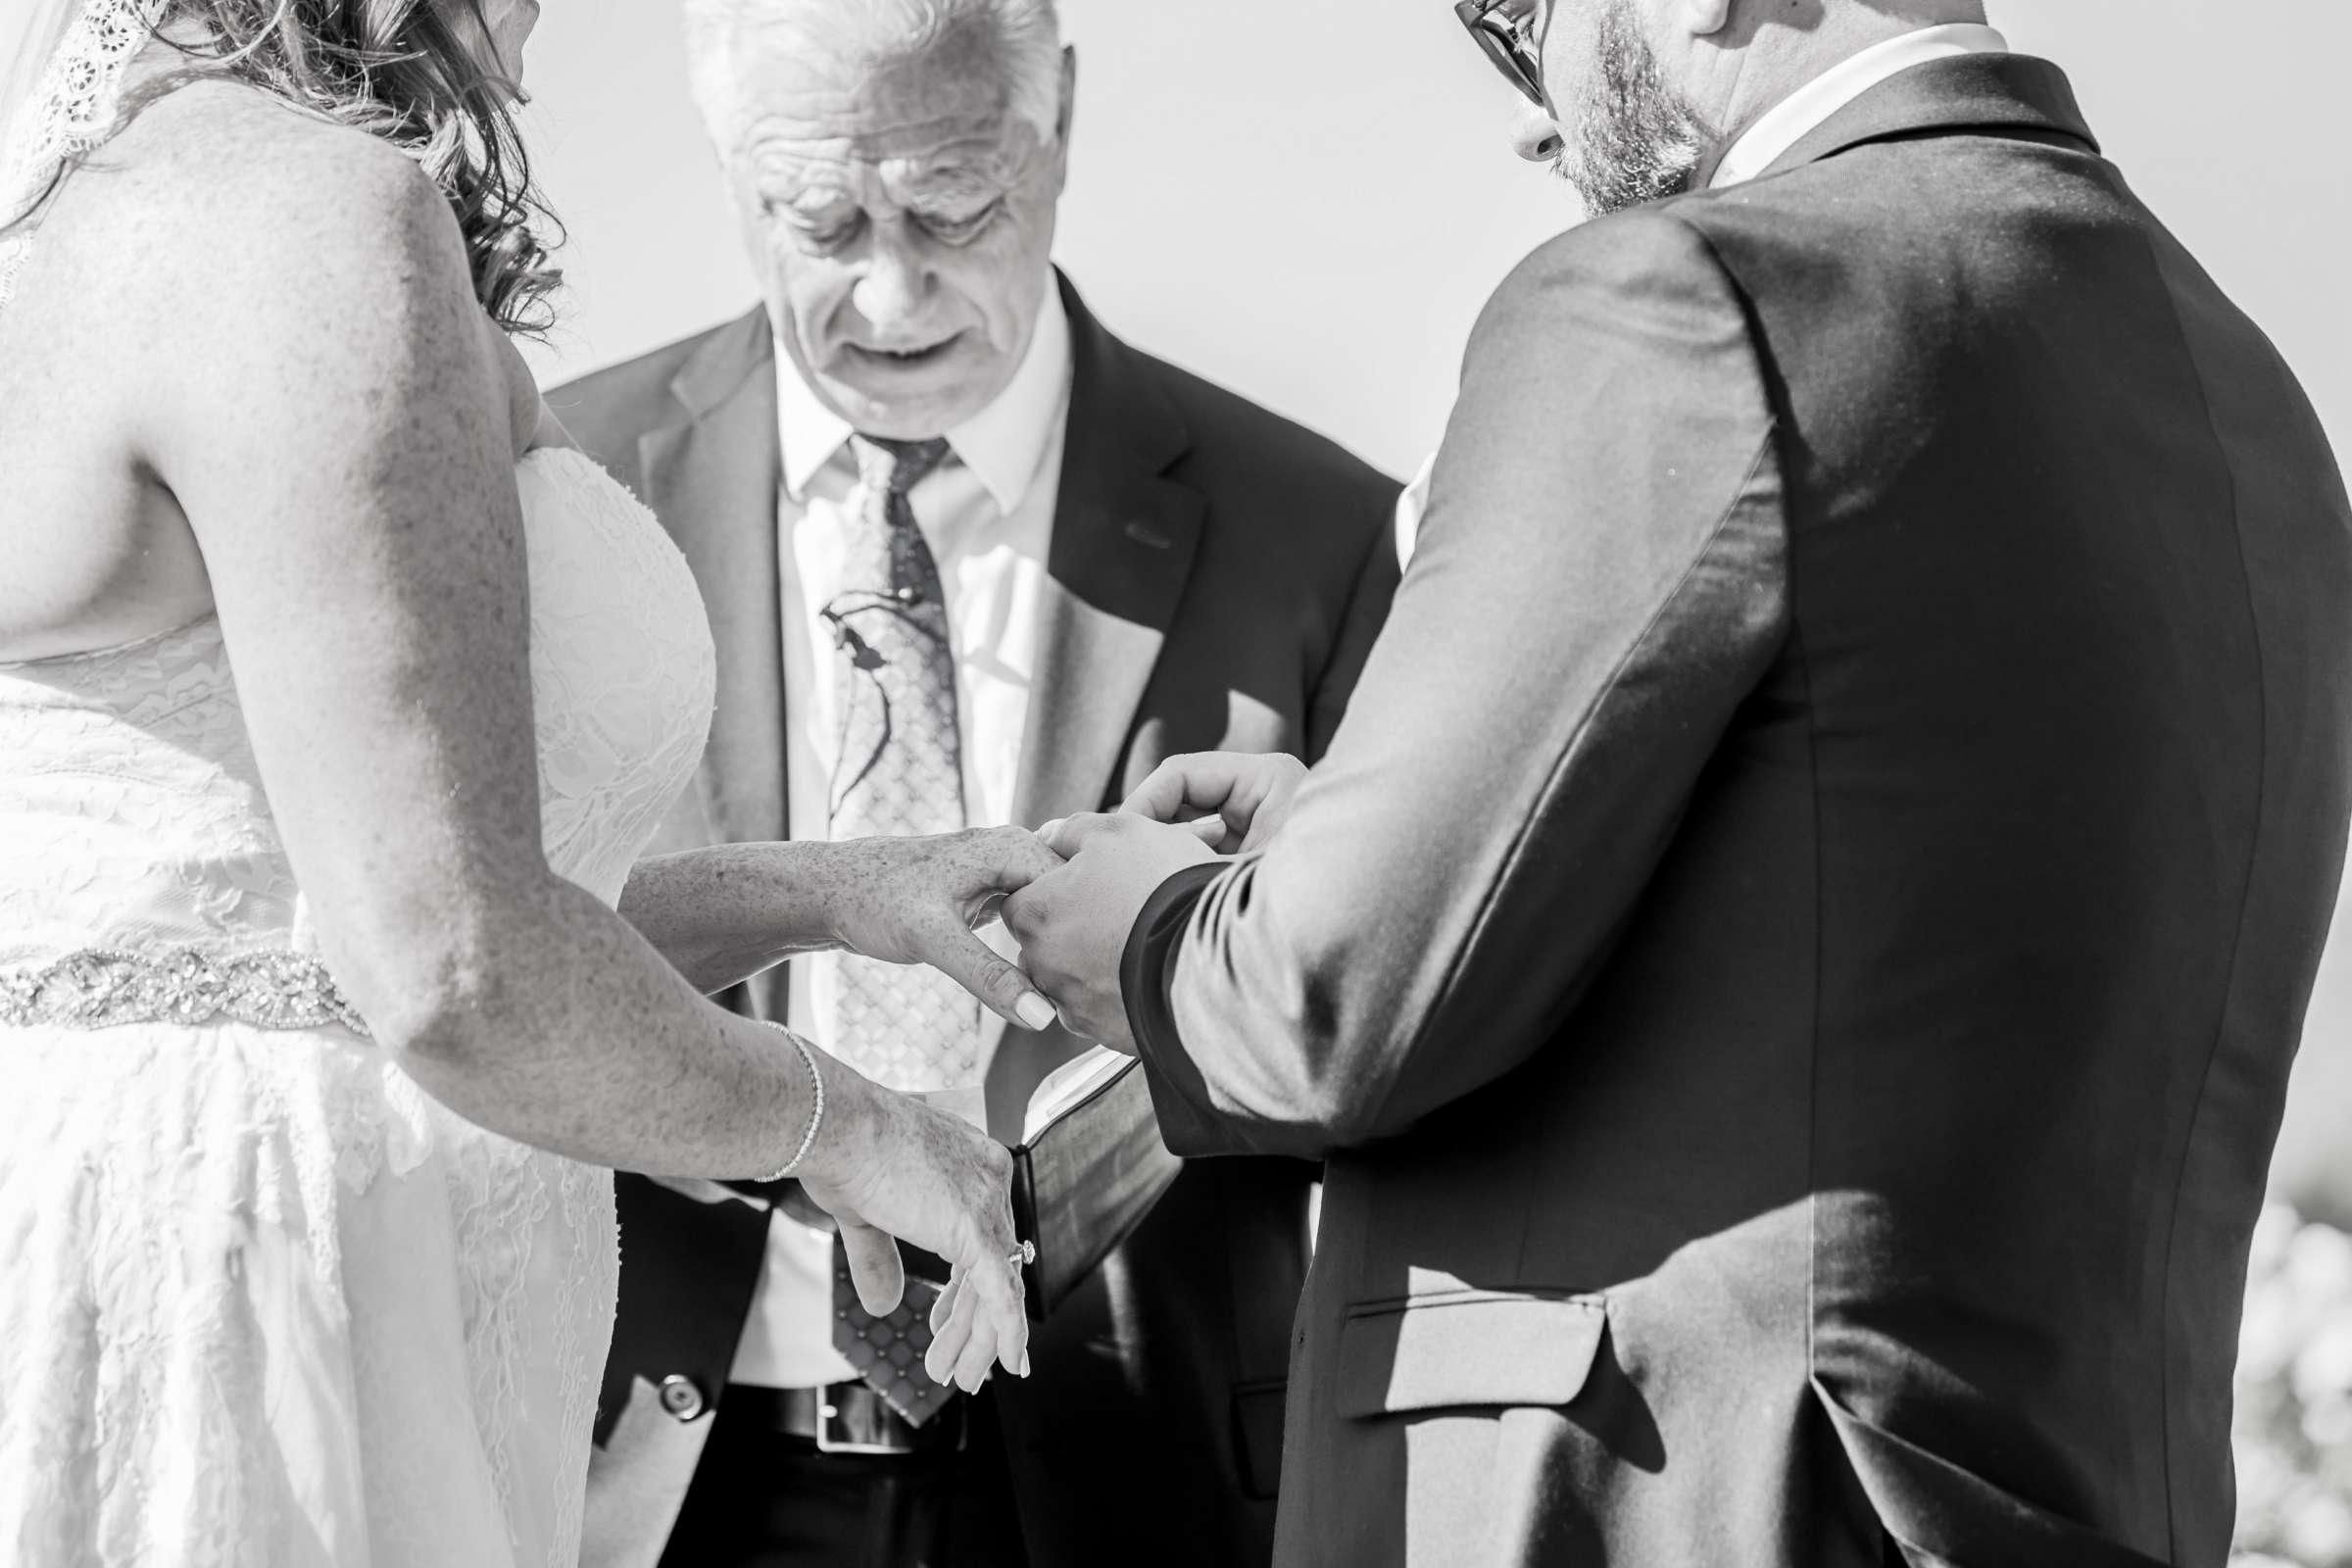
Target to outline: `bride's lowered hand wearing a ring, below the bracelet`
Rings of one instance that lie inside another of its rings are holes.
[[[875,1316],[906,1293],[891,1237],[955,1269],[931,1309],[922,1366],[967,1394],[997,1361],[1028,1378],[1011,1168],[1004,1145],[974,1126],[826,1063],[826,1126],[800,1185],[840,1225],[858,1302]]]

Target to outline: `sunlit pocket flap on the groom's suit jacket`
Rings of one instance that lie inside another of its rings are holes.
[[[1338,1413],[1564,1406],[1583,1392],[1606,1326],[1599,1295],[1451,1291],[1352,1307],[1338,1340]]]

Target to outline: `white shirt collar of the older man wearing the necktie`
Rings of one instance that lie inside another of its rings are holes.
[[[1021,355],[1021,369],[985,409],[946,433],[948,447],[988,489],[988,498],[997,503],[1000,512],[1016,510],[1037,480],[1068,393],[1070,315],[1063,310],[1061,289],[1047,280],[1044,306],[1037,310],[1037,327],[1030,331],[1028,353]],[[783,489],[793,501],[800,501],[816,470],[833,461],[854,430],[847,418],[816,397],[781,346],[776,348],[776,414],[783,435]]]

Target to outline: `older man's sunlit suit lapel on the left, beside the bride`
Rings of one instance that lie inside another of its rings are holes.
[[[696,788],[713,842],[786,837],[774,343],[753,310],[670,383],[684,421],[640,442],[647,501],[710,607],[720,693]]]

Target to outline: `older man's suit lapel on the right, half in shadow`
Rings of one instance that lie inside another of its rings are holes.
[[[1190,449],[1145,362],[1058,280],[1070,315],[1070,425],[1014,818],[1094,811],[1176,618],[1207,498],[1167,470]]]

